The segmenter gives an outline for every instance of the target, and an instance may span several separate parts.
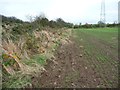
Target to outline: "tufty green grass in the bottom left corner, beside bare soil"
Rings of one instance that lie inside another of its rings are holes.
[[[7,76],[7,81],[2,82],[2,88],[21,88],[31,85],[31,77],[17,73],[13,76]]]

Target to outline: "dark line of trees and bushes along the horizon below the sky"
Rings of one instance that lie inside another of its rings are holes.
[[[68,28],[98,28],[98,27],[116,27],[118,24],[104,24],[101,21],[98,22],[98,24],[84,24],[81,23],[79,25],[74,25],[73,23],[65,22],[61,18],[57,18],[54,20],[48,20],[45,16],[36,16],[34,20],[31,22],[25,22],[20,19],[17,19],[16,17],[6,17],[3,15],[0,15],[2,17],[2,23],[11,24],[11,23],[27,23],[31,24],[33,27],[51,27],[51,28],[62,28],[62,27],[68,27]]]

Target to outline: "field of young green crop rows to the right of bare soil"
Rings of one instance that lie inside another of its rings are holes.
[[[118,28],[74,29],[73,35],[88,66],[94,67],[108,87],[118,81]],[[81,50],[81,49],[80,49]],[[101,85],[102,87],[102,85]]]

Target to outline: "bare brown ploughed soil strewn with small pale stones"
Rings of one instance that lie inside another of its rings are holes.
[[[97,48],[104,48],[98,40],[92,40]],[[91,43],[92,43],[91,42]],[[80,45],[81,44],[81,45]],[[98,46],[100,45],[100,47]],[[110,63],[103,64],[96,58],[88,57],[82,43],[74,38],[61,45],[54,62],[48,60],[46,71],[32,79],[33,87],[39,88],[100,88],[117,87],[117,67]],[[111,54],[111,52],[108,52]],[[114,58],[114,57],[112,57]],[[98,67],[97,67],[98,65]]]

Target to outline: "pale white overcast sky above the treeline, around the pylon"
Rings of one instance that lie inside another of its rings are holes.
[[[105,0],[106,23],[118,21],[118,1]],[[97,23],[100,12],[101,0],[0,0],[0,14],[22,20],[44,13],[49,20],[60,17],[74,24]]]

